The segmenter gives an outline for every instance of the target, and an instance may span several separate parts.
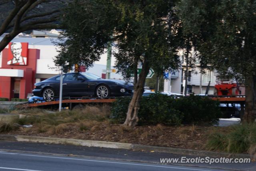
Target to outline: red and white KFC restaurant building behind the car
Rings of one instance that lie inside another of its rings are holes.
[[[58,41],[59,35],[56,33],[58,31],[52,30],[33,31],[26,36],[20,34],[6,46],[0,53],[0,97],[26,99],[36,82],[60,74],[53,61],[58,54],[53,43]],[[103,54],[100,61],[86,72],[102,76],[106,59],[107,54]],[[114,66],[114,62],[113,57],[111,66]],[[111,78],[120,79],[122,76],[112,73]]]

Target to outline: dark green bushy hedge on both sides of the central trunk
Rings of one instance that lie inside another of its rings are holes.
[[[112,118],[117,123],[123,123],[131,97],[117,98],[111,106]],[[174,99],[171,96],[155,93],[142,97],[138,111],[139,125],[180,125],[218,123],[221,112],[218,101],[208,97],[190,95]]]

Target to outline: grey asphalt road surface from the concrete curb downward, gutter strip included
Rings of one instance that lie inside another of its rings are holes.
[[[195,156],[176,155],[171,153],[150,153],[146,151],[132,151],[126,149],[0,141],[0,151],[5,151],[0,153],[0,171],[6,170],[3,168],[1,169],[1,167],[44,171],[57,171],[58,169],[62,171],[75,171],[79,169],[98,171],[182,171],[182,169],[186,171],[212,171],[212,169],[256,171],[256,162],[212,163],[211,165],[208,163],[168,163],[167,165],[158,165],[160,163],[160,158],[181,158],[184,156],[192,158]]]

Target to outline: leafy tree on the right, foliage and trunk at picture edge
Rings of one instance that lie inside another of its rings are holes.
[[[256,1],[181,0],[180,16],[193,34],[201,64],[246,86],[244,121],[256,119]]]

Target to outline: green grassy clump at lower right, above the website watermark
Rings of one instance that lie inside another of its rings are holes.
[[[207,141],[209,150],[229,153],[255,153],[256,124],[242,124],[230,127],[227,132],[214,132]]]

